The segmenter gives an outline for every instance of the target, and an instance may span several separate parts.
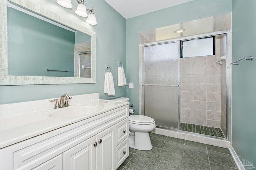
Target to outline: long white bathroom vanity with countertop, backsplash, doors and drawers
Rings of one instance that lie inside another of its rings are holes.
[[[49,100],[0,105],[1,170],[116,170],[129,156],[129,102]]]

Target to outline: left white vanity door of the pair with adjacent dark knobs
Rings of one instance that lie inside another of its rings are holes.
[[[95,170],[95,136],[63,152],[63,170]]]

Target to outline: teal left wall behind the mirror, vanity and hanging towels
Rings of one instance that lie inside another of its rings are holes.
[[[56,3],[56,1],[49,1],[49,3]],[[72,3],[75,6],[77,2],[74,0]],[[88,29],[96,32],[96,83],[0,86],[0,104],[57,98],[62,94],[73,96],[98,92],[101,99],[126,96],[126,86],[117,86],[118,61],[122,61],[126,68],[125,19],[105,0],[86,0],[85,3],[88,8],[94,7],[94,14],[98,21],[95,26],[88,25],[84,21],[84,25]],[[62,9],[62,7],[59,8]],[[64,8],[62,10],[70,11]],[[74,16],[78,17],[75,14]],[[112,97],[104,94],[104,76],[107,65],[112,68],[116,90],[116,95]]]

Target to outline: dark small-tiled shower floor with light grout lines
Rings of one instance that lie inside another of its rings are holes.
[[[187,132],[194,132],[203,135],[210,135],[214,137],[222,137],[225,138],[220,128],[216,127],[208,127],[202,125],[194,125],[189,123],[180,123],[180,130]]]

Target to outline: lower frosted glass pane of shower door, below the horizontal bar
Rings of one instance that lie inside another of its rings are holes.
[[[144,87],[144,113],[157,126],[178,128],[178,87]]]

